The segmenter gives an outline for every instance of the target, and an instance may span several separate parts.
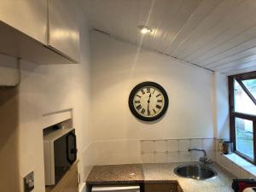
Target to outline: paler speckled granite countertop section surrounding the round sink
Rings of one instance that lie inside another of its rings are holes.
[[[232,176],[229,172],[213,164],[211,167],[218,172],[218,176],[207,180],[195,180],[191,178],[178,177],[174,172],[177,166],[198,164],[187,163],[166,163],[166,164],[143,164],[144,183],[161,181],[177,181],[183,192],[234,192],[231,189]]]

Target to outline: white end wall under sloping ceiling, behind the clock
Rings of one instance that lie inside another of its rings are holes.
[[[214,137],[211,72],[147,50],[137,52],[136,46],[99,32],[92,32],[91,48],[92,148],[101,146],[96,163],[124,162],[117,160],[119,155],[139,161],[140,139]],[[142,122],[128,107],[131,89],[143,81],[161,84],[169,96],[170,106],[158,122]]]

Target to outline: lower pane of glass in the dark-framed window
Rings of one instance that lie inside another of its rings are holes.
[[[254,159],[253,121],[236,118],[236,150]]]

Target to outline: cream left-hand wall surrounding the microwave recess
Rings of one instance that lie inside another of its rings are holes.
[[[34,191],[44,192],[43,128],[60,118],[43,114],[68,108],[73,108],[79,173],[84,180],[84,170],[90,166],[84,154],[91,142],[90,39],[84,20],[80,32],[81,63],[40,66],[21,61],[20,86],[0,90],[0,191],[23,191],[23,177],[34,171]]]

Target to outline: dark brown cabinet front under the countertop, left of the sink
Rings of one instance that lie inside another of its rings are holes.
[[[144,186],[145,192],[177,192],[177,183],[149,183]]]

